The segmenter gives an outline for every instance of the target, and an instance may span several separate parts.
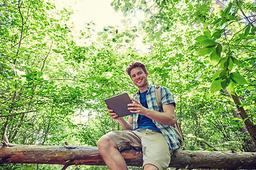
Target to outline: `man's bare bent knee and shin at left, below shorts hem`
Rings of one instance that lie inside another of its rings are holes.
[[[97,142],[100,155],[110,170],[127,170],[127,164],[117,149],[117,145],[107,135],[103,135]]]

